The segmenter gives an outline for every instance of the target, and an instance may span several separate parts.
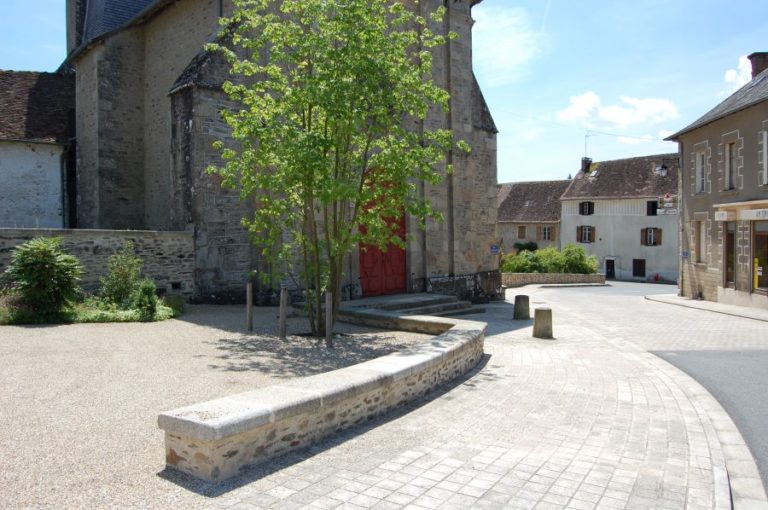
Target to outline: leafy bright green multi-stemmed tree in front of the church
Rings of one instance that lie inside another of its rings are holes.
[[[224,164],[209,171],[255,197],[243,222],[273,268],[299,275],[322,334],[322,294],[333,294],[335,321],[345,255],[358,243],[403,246],[391,221],[403,214],[422,226],[439,218],[417,183],[439,183],[447,152],[469,150],[450,131],[415,127],[448,108],[432,80],[431,49],[445,37],[429,28],[444,9],[425,19],[392,0],[234,3],[222,32],[231,44],[209,47],[231,65],[224,91],[238,106],[222,116],[234,140],[217,144]]]

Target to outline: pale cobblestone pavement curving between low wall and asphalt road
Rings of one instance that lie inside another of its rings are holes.
[[[765,324],[643,299],[669,289],[517,289],[552,306],[554,341],[492,304],[471,317],[489,322],[488,356],[454,387],[196,490],[212,509],[725,509],[731,490],[735,508],[768,508],[722,407],[647,352],[765,348]]]

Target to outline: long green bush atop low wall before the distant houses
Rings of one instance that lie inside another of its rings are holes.
[[[548,247],[508,255],[502,260],[501,270],[505,273],[593,274],[597,272],[597,266],[594,255],[587,255],[581,246],[568,244],[562,251]]]

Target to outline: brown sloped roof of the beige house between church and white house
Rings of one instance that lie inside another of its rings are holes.
[[[510,182],[499,185],[498,221],[560,221],[560,196],[571,181]]]

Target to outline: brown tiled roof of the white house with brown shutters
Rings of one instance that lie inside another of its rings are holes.
[[[654,171],[662,164],[667,167],[666,175]],[[592,163],[589,173],[576,174],[562,198],[641,198],[677,194],[678,169],[675,152]]]

